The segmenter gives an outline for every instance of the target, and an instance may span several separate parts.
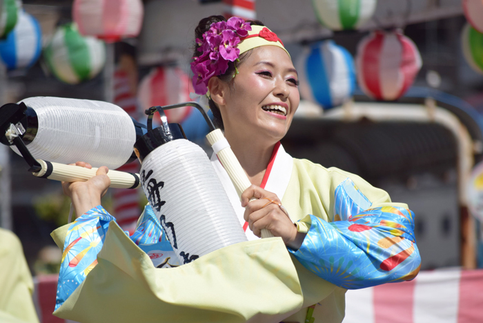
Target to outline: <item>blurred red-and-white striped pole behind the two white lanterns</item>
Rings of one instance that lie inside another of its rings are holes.
[[[137,117],[137,98],[130,88],[129,76],[126,71],[117,68],[114,73],[114,104],[120,106],[128,115]],[[132,161],[117,170],[127,173],[139,173],[139,163]],[[131,234],[135,230],[139,217],[139,193],[137,190],[115,188],[112,195],[114,214],[117,224]]]

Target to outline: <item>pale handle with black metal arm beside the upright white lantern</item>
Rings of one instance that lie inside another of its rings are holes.
[[[201,106],[197,104],[197,102],[172,104],[170,106],[164,106],[163,109],[168,110],[172,108],[179,108],[181,106],[193,106],[194,108],[197,108],[199,112],[201,112],[201,114],[204,116],[206,123],[210,127],[210,133],[206,135],[206,138],[208,139],[213,150],[215,151],[215,154],[217,154],[221,165],[223,165],[226,173],[228,173],[228,176],[233,182],[233,185],[237,190],[238,197],[241,198],[242,193],[251,186],[250,179],[248,179],[248,177],[246,176],[245,170],[242,168],[242,165],[240,165],[237,157],[233,153],[233,150],[231,150],[230,144],[228,144],[225,136],[220,129],[215,128],[211,119],[206,115],[203,108],[201,108]],[[148,110],[146,110],[146,114],[147,113]],[[268,231],[267,229],[262,229],[261,235],[262,238],[273,237],[272,233],[270,233],[270,231]]]

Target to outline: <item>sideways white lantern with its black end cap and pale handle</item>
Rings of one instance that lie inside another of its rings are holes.
[[[124,110],[102,101],[32,97],[0,108],[0,142],[21,155],[33,175],[64,182],[96,175],[95,167],[67,165],[75,161],[118,168],[135,159],[132,146],[142,128]],[[109,170],[108,177],[112,188],[140,184],[138,174]]]

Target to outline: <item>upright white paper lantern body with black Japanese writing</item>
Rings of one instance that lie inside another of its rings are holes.
[[[141,186],[182,264],[247,241],[208,156],[186,139],[155,148],[141,163]]]

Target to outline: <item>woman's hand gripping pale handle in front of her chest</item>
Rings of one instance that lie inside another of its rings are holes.
[[[253,201],[250,199],[255,198]],[[273,201],[274,203],[270,202]],[[250,202],[249,202],[250,201]],[[260,237],[262,229],[268,229],[275,237],[282,237],[284,244],[297,250],[305,235],[297,232],[292,220],[278,206],[282,204],[276,194],[252,185],[242,193],[242,206],[245,208],[244,219],[250,230]]]

